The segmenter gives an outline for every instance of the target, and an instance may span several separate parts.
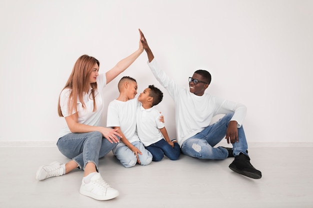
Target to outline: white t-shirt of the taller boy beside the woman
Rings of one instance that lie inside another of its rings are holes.
[[[106,126],[120,127],[126,139],[132,143],[139,141],[136,131],[136,111],[139,101],[133,98],[126,102],[112,100],[107,107]],[[117,146],[122,145],[119,143]]]

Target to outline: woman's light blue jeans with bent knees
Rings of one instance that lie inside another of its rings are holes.
[[[87,163],[95,164],[98,170],[99,158],[104,157],[117,144],[111,144],[100,132],[69,133],[58,139],[56,146],[67,158],[78,164],[84,170]]]

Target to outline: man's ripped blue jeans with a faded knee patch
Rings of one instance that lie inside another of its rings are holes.
[[[199,159],[223,160],[228,157],[225,148],[213,148],[225,138],[228,123],[232,118],[233,112],[226,114],[216,123],[209,125],[201,132],[185,140],[181,145],[181,152],[184,155]],[[238,142],[232,144],[233,155],[237,156],[240,152],[247,155],[246,143],[243,127],[238,128]]]

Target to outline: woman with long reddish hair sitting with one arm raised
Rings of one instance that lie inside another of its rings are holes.
[[[139,41],[135,52],[103,74],[98,74],[99,61],[95,58],[82,55],[77,59],[58,102],[58,115],[65,118],[67,126],[61,130],[56,145],[64,156],[72,160],[66,164],[53,162],[39,167],[36,172],[38,181],[78,168],[84,171],[80,194],[96,200],[109,200],[119,195],[98,173],[98,159],[110,152],[120,137],[116,130],[99,126],[104,108],[102,90],[142,51]]]

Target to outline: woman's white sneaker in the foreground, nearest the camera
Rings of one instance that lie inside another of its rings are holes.
[[[99,173],[92,176],[87,184],[82,179],[79,193],[95,200],[110,200],[119,195],[119,192],[109,186]]]

